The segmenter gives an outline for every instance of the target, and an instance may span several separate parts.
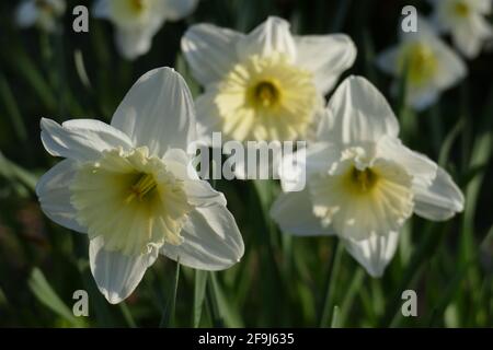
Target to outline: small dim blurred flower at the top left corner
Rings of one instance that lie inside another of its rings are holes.
[[[43,31],[54,32],[66,7],[65,0],[24,0],[18,7],[15,22],[22,28],[36,25]]]

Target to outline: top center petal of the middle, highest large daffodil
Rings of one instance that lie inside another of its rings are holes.
[[[283,52],[296,60],[296,44],[289,32],[289,23],[276,16],[270,16],[244,38],[237,43],[238,56],[245,59],[252,55],[270,56]]]

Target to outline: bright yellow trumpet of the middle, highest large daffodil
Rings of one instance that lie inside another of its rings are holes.
[[[321,102],[318,97],[313,74],[286,55],[273,52],[252,55],[236,65],[211,102],[222,132],[231,139],[272,141],[303,138]]]

